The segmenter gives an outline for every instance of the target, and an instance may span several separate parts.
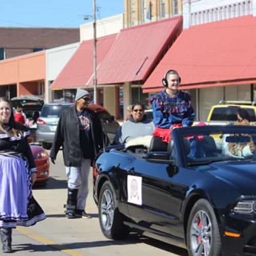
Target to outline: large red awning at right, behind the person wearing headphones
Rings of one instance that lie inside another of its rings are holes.
[[[169,69],[181,77],[181,89],[256,80],[256,17],[251,15],[197,25],[184,30],[148,77],[143,92],[163,89]]]

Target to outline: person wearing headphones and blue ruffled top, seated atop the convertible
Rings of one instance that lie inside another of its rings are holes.
[[[191,126],[195,117],[191,97],[179,90],[180,81],[176,70],[168,70],[162,79],[165,90],[150,98],[156,125],[154,136],[161,137],[165,142],[169,141],[170,132],[175,127]]]

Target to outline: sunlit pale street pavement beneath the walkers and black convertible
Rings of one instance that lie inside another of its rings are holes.
[[[127,240],[106,239],[100,230],[98,209],[92,196],[92,173],[86,206],[92,218],[67,219],[63,212],[63,204],[67,199],[67,181],[62,152],[59,152],[56,164],[50,165],[48,185],[34,188],[33,194],[45,210],[47,219],[35,226],[13,230],[12,247],[15,255],[187,255],[184,249],[140,237],[136,233],[132,233]]]

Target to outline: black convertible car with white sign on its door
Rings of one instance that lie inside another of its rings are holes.
[[[255,143],[256,126],[193,126],[168,144],[105,148],[94,168],[104,236],[137,230],[189,255],[255,255]]]

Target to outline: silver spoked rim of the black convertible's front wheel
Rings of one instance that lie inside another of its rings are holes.
[[[209,216],[200,210],[190,227],[190,245],[193,255],[208,256],[212,242],[212,225]]]

